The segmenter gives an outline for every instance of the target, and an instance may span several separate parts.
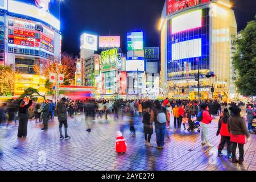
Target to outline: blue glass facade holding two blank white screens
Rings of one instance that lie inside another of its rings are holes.
[[[200,69],[209,69],[209,19],[207,8],[168,21],[167,80],[193,76],[191,71],[197,70],[198,65]]]

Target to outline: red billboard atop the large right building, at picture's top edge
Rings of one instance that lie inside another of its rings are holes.
[[[210,0],[167,0],[167,14],[175,13],[188,7],[200,5]]]

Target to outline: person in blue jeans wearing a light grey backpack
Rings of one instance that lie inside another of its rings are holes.
[[[155,133],[157,149],[163,149],[164,135],[166,133],[166,121],[170,122],[168,111],[165,107],[161,106],[160,101],[154,101],[154,107],[151,110],[150,122],[155,122]]]

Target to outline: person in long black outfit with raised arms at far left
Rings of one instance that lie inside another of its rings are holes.
[[[28,108],[33,104],[28,96],[19,101],[18,138],[27,137]]]

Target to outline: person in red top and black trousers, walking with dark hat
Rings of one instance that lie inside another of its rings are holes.
[[[232,143],[230,142],[230,133],[228,130],[228,118],[229,118],[229,110],[224,109],[224,111],[221,113],[220,119],[218,120],[218,131],[216,135],[221,135],[220,144],[218,144],[218,156],[222,156],[222,150],[224,148],[225,143],[227,144],[227,150],[228,150],[228,158],[231,159],[231,148]]]

